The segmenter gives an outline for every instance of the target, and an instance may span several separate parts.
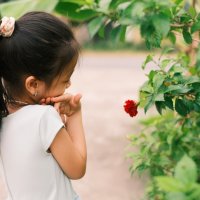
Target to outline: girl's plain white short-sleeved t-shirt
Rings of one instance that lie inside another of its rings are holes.
[[[63,126],[52,106],[28,105],[3,118],[0,152],[13,200],[79,199],[68,177],[47,152]]]

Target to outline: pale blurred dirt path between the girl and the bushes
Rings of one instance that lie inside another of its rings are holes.
[[[138,99],[145,81],[145,55],[84,53],[72,78],[72,92],[83,94],[88,147],[87,173],[73,181],[82,200],[139,200],[145,180],[131,178],[125,159],[126,136],[137,133],[138,118],[123,111],[126,99]],[[139,112],[143,116],[143,112]]]

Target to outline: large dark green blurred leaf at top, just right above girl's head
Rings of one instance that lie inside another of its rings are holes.
[[[74,3],[59,2],[55,8],[60,13],[74,21],[86,21],[99,15],[97,11],[91,9],[81,9],[81,6]]]

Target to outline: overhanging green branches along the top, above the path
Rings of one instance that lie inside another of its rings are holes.
[[[200,30],[200,15],[192,6],[184,8],[183,0],[61,0],[56,11],[72,20],[90,20],[91,37],[97,33],[103,37],[111,25],[111,38],[124,41],[127,28],[140,26],[149,49],[160,47],[164,38],[174,44],[176,33],[190,44]]]

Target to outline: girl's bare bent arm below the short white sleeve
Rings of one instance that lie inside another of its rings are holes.
[[[58,132],[50,146],[52,155],[64,173],[71,179],[83,177],[86,171],[87,152],[80,98],[72,96],[71,100],[67,102],[68,108],[63,109],[62,106],[60,114],[64,114],[65,110],[69,111],[70,109],[72,114],[68,117],[66,128],[62,128]],[[59,97],[54,99],[54,102],[59,101],[61,101]]]

